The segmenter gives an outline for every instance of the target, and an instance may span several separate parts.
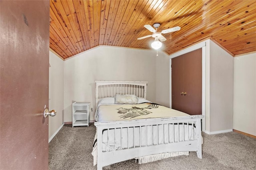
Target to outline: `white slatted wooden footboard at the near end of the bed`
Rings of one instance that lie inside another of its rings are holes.
[[[203,117],[191,115],[95,122],[97,169],[132,158],[166,152],[196,151],[198,158],[202,158]]]

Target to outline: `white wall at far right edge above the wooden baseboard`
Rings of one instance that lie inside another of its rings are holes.
[[[256,53],[234,58],[233,129],[256,136]]]

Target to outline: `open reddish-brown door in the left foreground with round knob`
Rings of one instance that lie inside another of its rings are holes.
[[[0,1],[0,169],[48,169],[49,1]]]

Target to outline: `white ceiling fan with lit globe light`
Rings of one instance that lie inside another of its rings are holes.
[[[152,35],[146,35],[144,37],[140,37],[138,38],[138,40],[148,38],[148,37],[153,37],[155,38],[155,41],[151,44],[151,46],[154,49],[159,49],[162,46],[162,43],[160,41],[166,41],[166,38],[162,34],[180,30],[180,27],[177,26],[177,27],[164,29],[161,32],[158,32],[157,29],[159,26],[160,26],[160,23],[154,23],[153,27],[156,28],[154,29],[151,25],[144,25],[146,29],[152,32]]]

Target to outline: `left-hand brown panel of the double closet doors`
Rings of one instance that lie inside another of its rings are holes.
[[[172,59],[172,109],[183,111],[184,96],[181,95],[184,89],[184,58],[175,57]]]

